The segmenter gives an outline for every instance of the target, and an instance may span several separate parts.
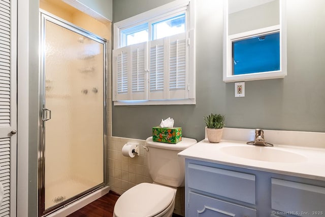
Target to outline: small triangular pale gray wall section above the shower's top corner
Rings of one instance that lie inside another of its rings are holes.
[[[109,20],[113,20],[112,0],[78,0],[88,8],[94,10]]]

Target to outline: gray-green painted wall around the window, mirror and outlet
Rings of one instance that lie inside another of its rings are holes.
[[[113,0],[113,22],[171,1]],[[325,1],[287,0],[287,76],[222,82],[222,0],[199,0],[196,9],[196,105],[113,106],[112,135],[145,139],[161,118],[172,117],[183,136],[204,138],[203,117],[221,113],[227,127],[325,132]]]

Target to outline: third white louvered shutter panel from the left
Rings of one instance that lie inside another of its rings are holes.
[[[164,39],[150,42],[149,48],[149,99],[164,99],[165,97],[165,71],[166,52]]]

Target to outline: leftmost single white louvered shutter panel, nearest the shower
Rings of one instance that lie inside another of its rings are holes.
[[[129,47],[113,50],[113,100],[129,100],[129,70],[131,69]]]

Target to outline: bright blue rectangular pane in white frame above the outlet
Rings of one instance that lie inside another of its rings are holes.
[[[279,32],[232,43],[233,75],[280,70]]]

